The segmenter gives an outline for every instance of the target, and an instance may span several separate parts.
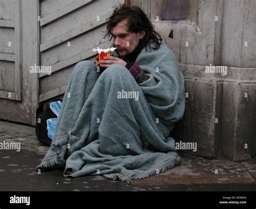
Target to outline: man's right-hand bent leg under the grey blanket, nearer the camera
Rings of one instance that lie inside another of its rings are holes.
[[[156,132],[164,126],[156,124],[142,89],[122,65],[112,65],[99,76],[81,113],[69,134],[70,154],[98,139],[103,154],[140,154],[149,146],[149,135],[164,138],[161,131]],[[142,118],[144,124],[138,124]],[[147,127],[152,127],[152,131]],[[126,141],[120,141],[120,137]]]

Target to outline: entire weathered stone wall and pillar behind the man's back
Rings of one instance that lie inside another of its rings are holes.
[[[197,152],[185,150],[195,156],[250,159],[256,153],[256,1],[161,2],[164,8],[155,1],[131,4],[151,18],[185,76],[185,115],[173,138],[197,142]],[[210,65],[226,66],[227,73],[206,73]]]

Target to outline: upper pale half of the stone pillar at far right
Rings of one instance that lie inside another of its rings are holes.
[[[222,65],[255,67],[255,8],[254,0],[224,1]]]

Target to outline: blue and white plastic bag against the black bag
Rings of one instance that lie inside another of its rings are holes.
[[[60,101],[50,103],[50,108],[51,108],[52,112],[55,113],[55,115],[57,116],[53,119],[48,119],[46,121],[46,123],[47,123],[46,129],[48,130],[48,137],[51,139],[53,138],[53,135],[54,135],[54,131],[55,131],[55,127],[57,125],[58,116],[59,116],[61,107],[62,107],[62,102],[60,102]]]

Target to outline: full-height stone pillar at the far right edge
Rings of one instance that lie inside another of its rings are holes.
[[[222,142],[235,161],[256,153],[256,1],[225,1],[221,65],[230,71],[223,81]]]

